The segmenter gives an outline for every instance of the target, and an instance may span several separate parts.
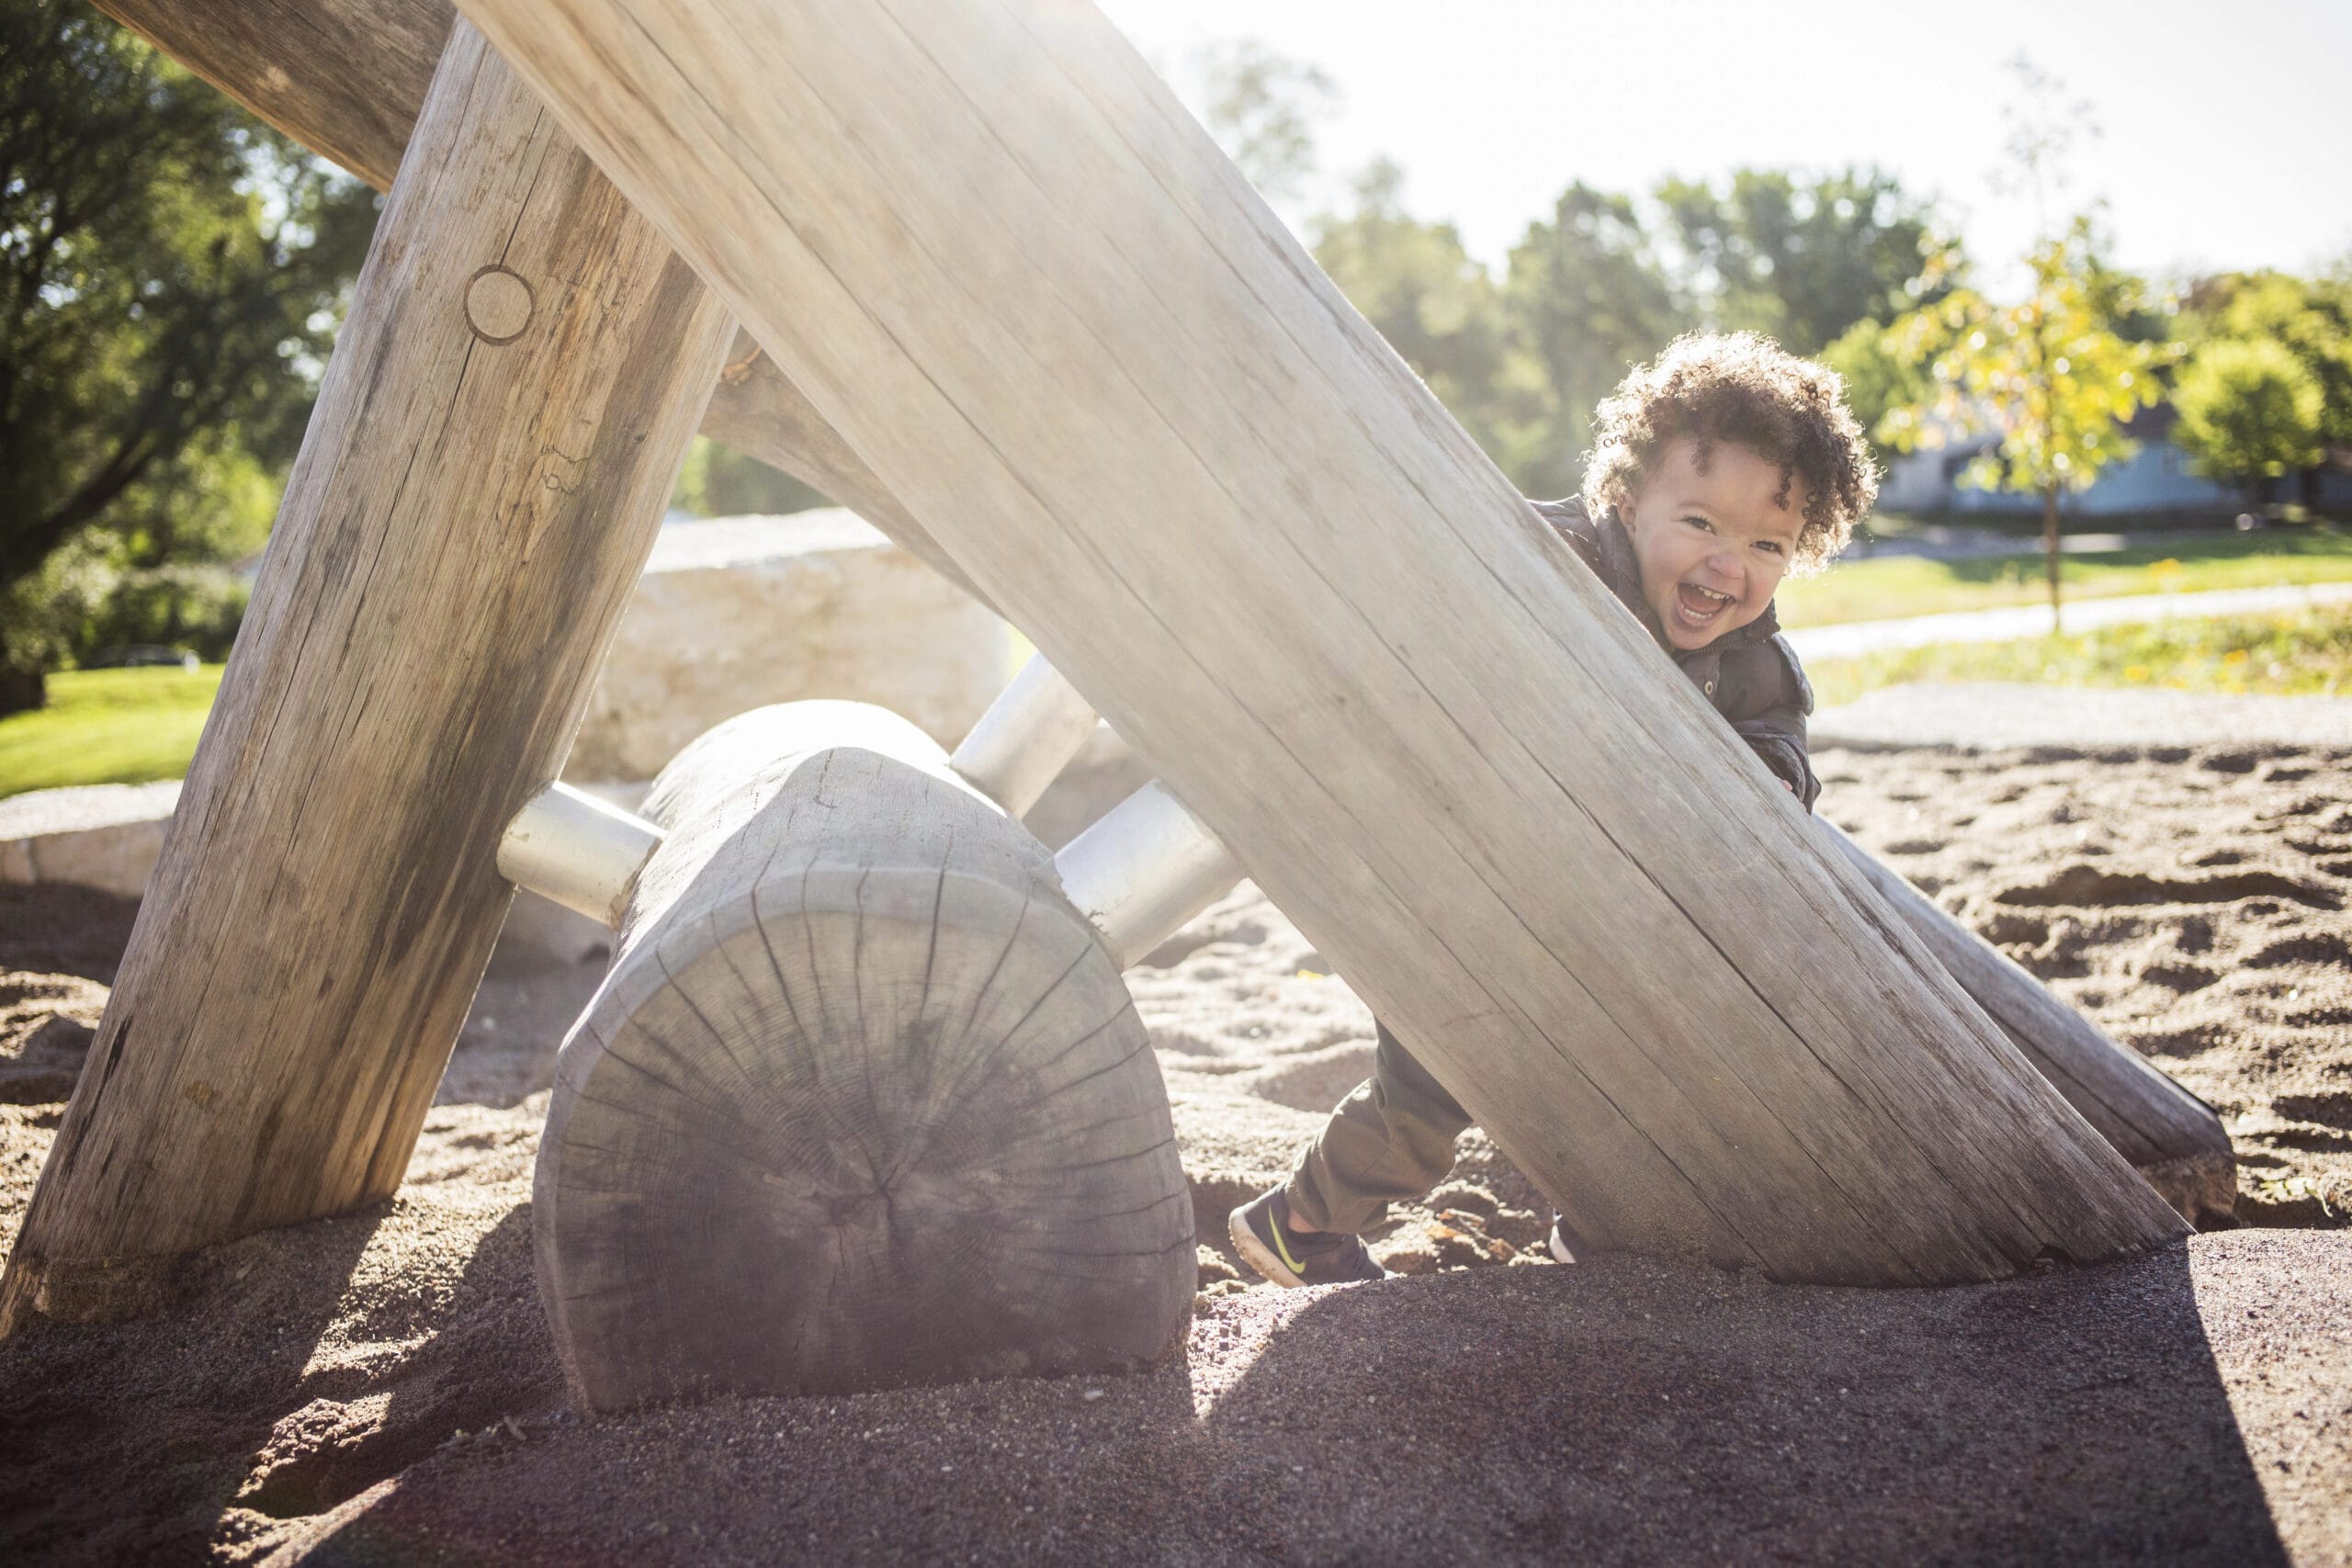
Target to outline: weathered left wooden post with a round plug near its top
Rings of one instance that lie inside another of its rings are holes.
[[[400,1182],[729,334],[452,33],[0,1328]]]

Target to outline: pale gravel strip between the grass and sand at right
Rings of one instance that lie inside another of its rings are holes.
[[[1823,708],[1813,745],[2143,748],[2312,745],[2352,750],[2352,698],[2216,696],[2150,686],[1910,682]]]

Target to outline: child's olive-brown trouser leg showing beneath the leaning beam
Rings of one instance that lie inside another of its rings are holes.
[[[1338,1103],[1291,1171],[1291,1215],[1312,1229],[1371,1229],[1392,1199],[1416,1199],[1444,1180],[1454,1138],[1470,1126],[1470,1112],[1388,1025],[1376,1030],[1371,1077]]]

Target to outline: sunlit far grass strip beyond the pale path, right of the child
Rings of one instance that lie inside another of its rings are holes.
[[[2312,524],[2253,534],[2183,534],[2161,545],[2065,555],[2058,576],[2070,599],[2340,583],[2352,578],[2352,529]],[[1893,621],[1955,609],[2046,602],[2042,550],[1983,555],[1964,562],[1933,562],[1917,555],[1851,559],[1820,576],[1783,583],[1778,595],[1783,625]]]

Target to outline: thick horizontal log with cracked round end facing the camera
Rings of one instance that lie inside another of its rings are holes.
[[[1143,1023],[1051,856],[913,724],[764,708],[647,813],[532,1227],[574,1399],[1160,1359],[1192,1201]]]

